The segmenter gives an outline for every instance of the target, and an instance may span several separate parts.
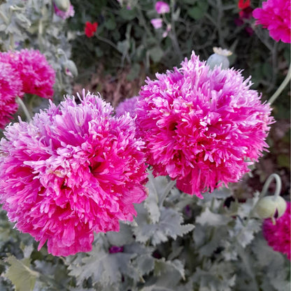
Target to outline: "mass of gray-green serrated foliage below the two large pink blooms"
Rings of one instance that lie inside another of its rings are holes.
[[[148,199],[136,205],[135,220],[121,222],[120,232],[96,234],[90,253],[58,258],[45,248],[38,252],[3,216],[1,290],[10,290],[11,281],[20,291],[290,288],[289,261],[267,245],[262,222],[252,215],[257,194],[226,206],[231,190],[198,199],[180,193],[166,177],[149,177]]]

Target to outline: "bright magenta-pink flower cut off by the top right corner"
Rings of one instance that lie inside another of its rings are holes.
[[[255,24],[262,24],[269,29],[269,34],[275,41],[290,43],[291,9],[290,0],[268,0],[262,3],[262,8],[253,10]]]

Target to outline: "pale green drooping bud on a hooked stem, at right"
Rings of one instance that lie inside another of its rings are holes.
[[[281,196],[267,196],[257,202],[255,211],[260,218],[271,218],[274,221],[285,213],[286,208],[287,203]]]

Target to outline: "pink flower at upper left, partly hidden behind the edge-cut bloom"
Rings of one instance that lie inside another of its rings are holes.
[[[54,94],[55,71],[39,50],[1,52],[0,62],[10,64],[19,73],[22,92],[50,98]]]

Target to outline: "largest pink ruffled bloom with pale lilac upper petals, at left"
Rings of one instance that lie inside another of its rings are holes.
[[[79,99],[50,101],[31,122],[6,127],[0,142],[3,209],[52,255],[90,251],[94,232],[119,231],[146,199],[144,143],[132,118],[115,118],[85,91]]]

